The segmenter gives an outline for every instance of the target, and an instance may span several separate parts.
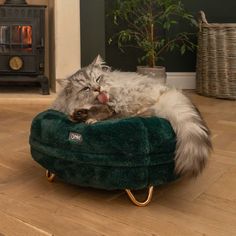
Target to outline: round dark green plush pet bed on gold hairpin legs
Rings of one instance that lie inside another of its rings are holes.
[[[149,188],[177,178],[176,136],[170,123],[157,117],[125,118],[92,125],[74,123],[58,111],[37,115],[31,127],[33,159],[55,175],[79,186],[115,190]]]

